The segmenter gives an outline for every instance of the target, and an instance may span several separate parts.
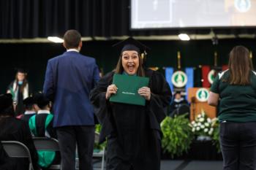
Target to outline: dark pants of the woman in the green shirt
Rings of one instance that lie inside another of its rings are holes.
[[[256,169],[256,122],[220,123],[224,170]]]

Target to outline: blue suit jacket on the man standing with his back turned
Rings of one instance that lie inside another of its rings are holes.
[[[99,80],[94,58],[75,51],[48,61],[43,93],[53,101],[53,126],[94,125],[89,93]]]

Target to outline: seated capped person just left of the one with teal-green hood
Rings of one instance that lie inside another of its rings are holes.
[[[25,98],[23,100],[23,104],[25,107],[25,112],[23,115],[20,115],[17,118],[20,118],[21,120],[25,120],[26,122],[29,122],[30,117],[37,114],[37,111],[34,108],[34,98],[33,97]]]

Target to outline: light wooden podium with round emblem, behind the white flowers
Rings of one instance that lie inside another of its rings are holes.
[[[217,109],[216,107],[211,107],[207,104],[207,101],[199,101],[196,98],[197,90],[200,88],[189,88],[188,101],[190,103],[190,120],[195,120],[195,117],[201,113],[202,109],[211,119],[216,117]],[[207,90],[209,88],[206,88]]]

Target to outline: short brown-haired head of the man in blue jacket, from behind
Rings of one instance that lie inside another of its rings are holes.
[[[81,41],[81,34],[75,29],[66,31],[64,34],[64,45],[67,49],[77,48]]]

